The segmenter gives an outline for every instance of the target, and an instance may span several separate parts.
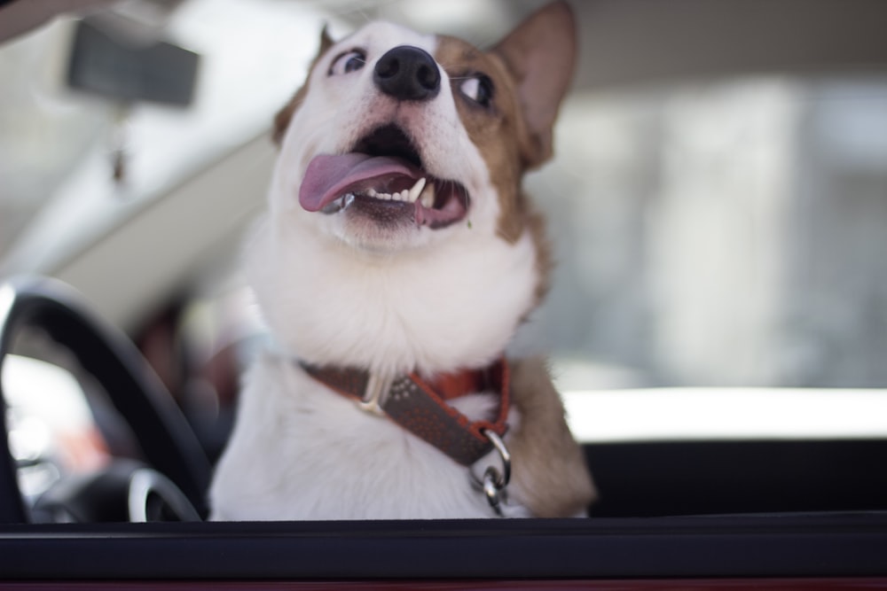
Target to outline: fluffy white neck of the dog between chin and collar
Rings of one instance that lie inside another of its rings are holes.
[[[373,263],[310,231],[271,220],[257,232],[247,268],[280,344],[314,365],[387,375],[482,368],[535,304],[538,253],[529,233],[508,244],[466,230]]]

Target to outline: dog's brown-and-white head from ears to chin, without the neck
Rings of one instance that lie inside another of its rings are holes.
[[[569,8],[552,4],[489,52],[388,23],[339,43],[325,32],[276,120],[276,205],[370,250],[467,231],[516,240],[527,221],[521,176],[552,152],[572,31]]]

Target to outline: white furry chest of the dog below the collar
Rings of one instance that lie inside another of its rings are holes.
[[[466,468],[291,362],[256,363],[242,396],[211,491],[217,519],[493,515]]]

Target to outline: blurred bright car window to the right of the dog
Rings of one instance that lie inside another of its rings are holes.
[[[530,181],[569,388],[883,387],[887,75],[574,95]]]

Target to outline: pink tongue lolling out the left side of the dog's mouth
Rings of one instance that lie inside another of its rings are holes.
[[[330,156],[321,154],[311,159],[302,186],[299,203],[310,212],[323,209],[341,197],[352,185],[383,175],[404,175],[419,178],[402,160],[375,157],[359,152]],[[367,185],[371,183],[366,183]],[[357,191],[357,188],[354,189]]]

